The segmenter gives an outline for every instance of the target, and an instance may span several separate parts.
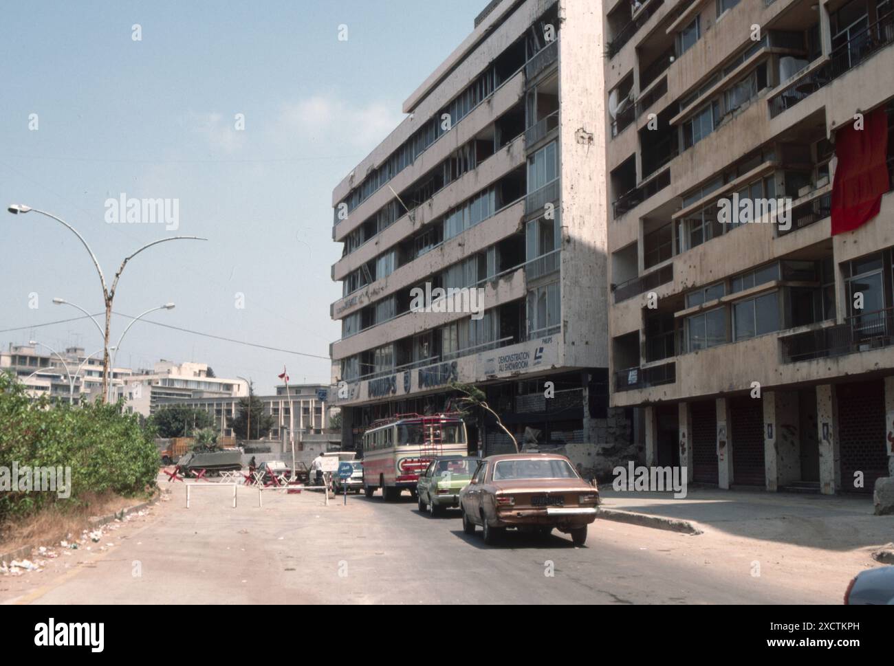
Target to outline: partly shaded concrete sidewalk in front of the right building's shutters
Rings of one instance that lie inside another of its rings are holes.
[[[871,495],[767,493],[760,489],[688,488],[673,493],[599,489],[603,508],[690,522],[704,532],[821,548],[873,550],[894,541],[894,516],[873,515]]]

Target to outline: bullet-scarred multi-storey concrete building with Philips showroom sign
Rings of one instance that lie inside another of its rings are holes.
[[[456,381],[586,468],[637,458],[634,410],[608,404],[600,7],[488,4],[333,190],[345,448],[377,418],[450,409]],[[483,307],[414,307],[438,289],[477,290]],[[493,421],[468,431],[470,451],[510,450]]]

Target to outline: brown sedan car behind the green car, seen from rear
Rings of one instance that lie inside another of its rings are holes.
[[[474,534],[484,527],[493,544],[507,527],[548,535],[554,527],[586,542],[586,526],[596,519],[599,491],[578,476],[565,456],[515,453],[481,461],[460,491],[462,527]]]

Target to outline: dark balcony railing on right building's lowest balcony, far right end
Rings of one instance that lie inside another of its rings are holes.
[[[894,308],[849,316],[844,324],[780,337],[782,362],[832,358],[894,344]]]

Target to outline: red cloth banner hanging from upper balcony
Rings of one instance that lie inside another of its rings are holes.
[[[888,115],[884,107],[835,132],[835,181],[832,183],[832,235],[851,232],[879,214],[888,191]]]

